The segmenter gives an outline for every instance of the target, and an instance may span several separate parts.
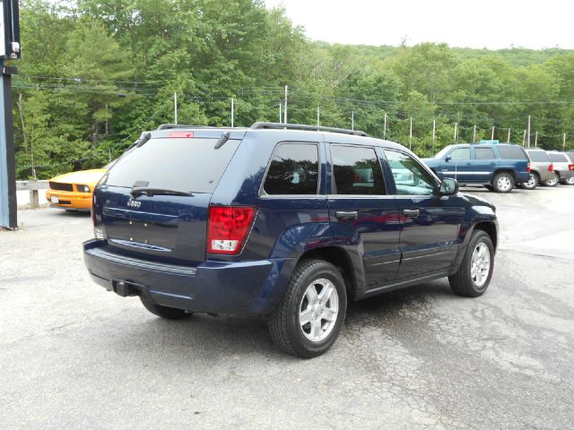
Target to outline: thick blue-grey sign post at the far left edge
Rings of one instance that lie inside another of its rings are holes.
[[[4,67],[4,61],[0,60],[0,73],[0,227],[16,228],[18,219],[11,83],[11,74],[16,73],[16,69]]]

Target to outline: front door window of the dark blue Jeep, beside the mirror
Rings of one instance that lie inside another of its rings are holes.
[[[435,180],[413,157],[397,150],[385,150],[400,195],[431,195]]]

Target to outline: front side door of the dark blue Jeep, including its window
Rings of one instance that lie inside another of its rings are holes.
[[[384,150],[387,167],[395,178],[396,202],[401,213],[401,263],[396,279],[409,278],[451,267],[458,249],[458,232],[465,208],[457,196],[439,197],[437,182],[411,155]],[[411,176],[397,179],[395,172]]]

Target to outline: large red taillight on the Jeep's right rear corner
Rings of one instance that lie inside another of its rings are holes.
[[[257,208],[210,206],[207,221],[207,253],[239,254],[248,237]]]

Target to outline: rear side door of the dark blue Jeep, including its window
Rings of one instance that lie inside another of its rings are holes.
[[[367,288],[396,278],[400,216],[374,146],[330,143],[329,219],[339,245],[362,264]]]

